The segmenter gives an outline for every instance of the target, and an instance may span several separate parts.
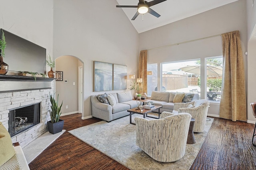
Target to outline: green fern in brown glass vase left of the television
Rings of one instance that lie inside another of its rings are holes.
[[[4,49],[6,48],[6,41],[4,31],[2,30],[2,36],[0,38],[0,74],[6,74],[9,69],[9,65],[4,63]]]

